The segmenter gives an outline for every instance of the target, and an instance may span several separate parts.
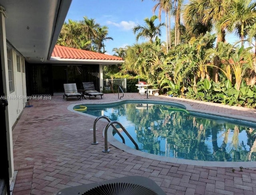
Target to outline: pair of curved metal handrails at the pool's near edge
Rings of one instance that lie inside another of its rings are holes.
[[[108,117],[106,116],[99,116],[98,118],[96,118],[94,120],[93,123],[93,142],[92,145],[96,145],[98,144],[98,142],[96,142],[96,123],[98,120],[100,120],[101,118],[104,118],[108,121],[108,124],[105,126],[104,128],[104,150],[102,150],[102,152],[110,152],[110,150],[108,149],[108,128],[110,126],[112,126],[113,130],[120,136],[120,138],[122,139],[123,144],[125,144],[125,140],[124,137],[120,134],[120,132],[118,131],[118,129],[116,128],[116,126],[114,126],[114,124],[118,124],[120,126],[120,128],[124,131],[124,133],[128,136],[128,138],[132,141],[132,143],[134,144],[134,146],[136,147],[136,150],[139,150],[139,146],[138,144],[134,141],[134,139],[130,136],[130,134],[127,132],[127,130],[124,128],[124,126],[122,126],[122,124],[120,124],[120,122],[118,121],[111,121]]]

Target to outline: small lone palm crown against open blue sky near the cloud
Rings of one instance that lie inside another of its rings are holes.
[[[146,23],[145,26],[135,26],[132,30],[133,33],[136,34],[136,41],[138,41],[139,38],[146,38],[149,39],[149,41],[152,43],[153,39],[156,36],[161,36],[161,27],[164,26],[164,23],[160,23],[155,26],[154,22],[158,17],[156,15],[152,16],[150,19],[145,18],[144,22]]]

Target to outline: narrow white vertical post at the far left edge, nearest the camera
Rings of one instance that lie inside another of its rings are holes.
[[[4,85],[4,94],[9,95],[9,78],[8,78],[8,63],[7,63],[7,47],[6,47],[6,32],[5,32],[5,16],[4,10],[0,6],[0,55],[2,64],[2,76]],[[9,175],[12,178],[14,173],[14,163],[13,163],[13,148],[12,148],[12,125],[10,124],[9,118],[10,113],[8,112],[8,106],[5,110],[5,120],[6,120],[6,136],[7,136],[7,152],[9,161]]]

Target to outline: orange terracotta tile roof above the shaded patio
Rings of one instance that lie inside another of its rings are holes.
[[[121,57],[55,45],[52,57],[63,59],[123,60]]]

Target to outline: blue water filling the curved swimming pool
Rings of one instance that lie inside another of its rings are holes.
[[[140,151],[189,160],[256,161],[256,124],[231,118],[177,111],[179,104],[126,101],[86,105],[84,113],[120,122]],[[126,145],[134,144],[121,131]],[[117,134],[114,137],[122,142]]]

